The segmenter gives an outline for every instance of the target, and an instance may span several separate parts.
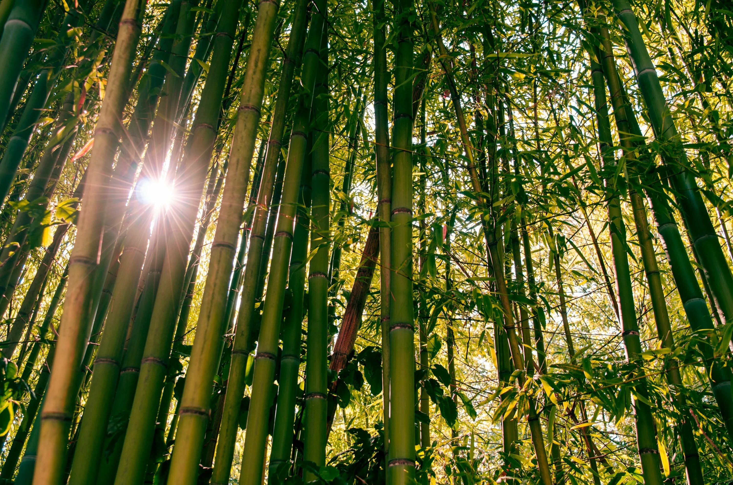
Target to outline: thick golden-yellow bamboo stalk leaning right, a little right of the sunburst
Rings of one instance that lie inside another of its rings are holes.
[[[213,376],[218,369],[223,340],[224,312],[229,278],[235,257],[237,236],[242,223],[242,207],[247,195],[249,169],[264,95],[266,64],[270,56],[279,5],[270,0],[259,3],[252,45],[240,97],[239,114],[229,154],[224,196],[211,250],[207,282],[196,326],[196,339],[186,374],[180,404],[177,440],[173,448],[168,483],[195,484],[201,445],[210,406]]]

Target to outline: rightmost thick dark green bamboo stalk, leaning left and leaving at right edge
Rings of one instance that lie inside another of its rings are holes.
[[[700,257],[715,303],[723,312],[726,322],[729,322],[733,319],[733,274],[695,177],[690,171],[682,139],[674,125],[654,62],[649,57],[647,46],[644,45],[638,29],[636,15],[627,0],[613,0],[612,4],[633,63],[636,81],[647,104],[649,120],[656,138],[660,141],[660,153],[671,174],[671,184],[679,194],[677,199],[690,232],[690,239]]]

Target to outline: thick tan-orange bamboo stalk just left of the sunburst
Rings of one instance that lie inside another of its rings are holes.
[[[106,205],[106,182],[119,140],[119,119],[127,102],[130,66],[140,35],[145,2],[128,0],[122,14],[115,44],[106,95],[95,129],[95,147],[89,161],[89,175],[84,188],[86,207],[78,219],[76,244],[69,265],[69,289],[64,304],[58,352],[54,355],[54,373],[48,383],[39,440],[44,443],[37,459],[33,483],[55,485],[62,481],[66,464],[67,432],[73,415],[80,382],[79,365],[84,357],[91,323],[92,275],[98,263]]]

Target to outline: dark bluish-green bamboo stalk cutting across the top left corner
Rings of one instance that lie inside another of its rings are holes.
[[[23,64],[31,49],[47,0],[26,0],[15,2],[0,39],[0,66],[3,76],[0,80],[0,125],[10,114],[15,85],[23,70]]]

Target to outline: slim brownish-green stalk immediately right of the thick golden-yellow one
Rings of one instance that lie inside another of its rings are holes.
[[[232,360],[229,363],[224,412],[221,418],[216,459],[214,460],[214,471],[211,478],[212,484],[229,483],[229,473],[237,439],[240,403],[245,388],[244,377],[249,354],[252,347],[254,347],[254,339],[251,338],[251,333],[253,333],[252,320],[254,319],[254,301],[259,286],[259,271],[263,259],[263,240],[268,222],[268,208],[270,207],[270,199],[273,196],[273,184],[280,156],[293,73],[298,52],[301,51],[301,45],[305,37],[307,7],[308,3],[306,1],[298,1],[292,21],[290,40],[283,60],[275,113],[257,194],[257,207],[254,210],[252,229],[249,236],[248,257],[243,276],[236,334],[232,344]],[[269,255],[269,249],[267,255]]]

